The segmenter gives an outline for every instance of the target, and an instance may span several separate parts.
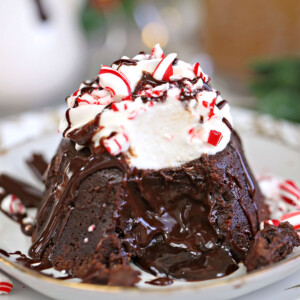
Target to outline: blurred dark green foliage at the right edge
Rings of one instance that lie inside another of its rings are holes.
[[[258,109],[278,118],[300,122],[300,58],[257,62],[250,89]]]

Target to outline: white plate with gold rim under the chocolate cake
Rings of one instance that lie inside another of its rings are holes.
[[[14,139],[9,144],[9,138],[2,138],[0,144],[0,172],[5,171],[11,175],[26,179],[31,184],[38,185],[24,164],[24,158],[32,152],[42,152],[48,159],[54,154],[60,141],[60,136],[55,133],[54,120],[52,117],[57,112],[43,112],[48,117],[40,132],[36,128],[30,136],[30,126],[26,131],[26,139],[19,134],[19,139]],[[40,124],[40,114],[30,114],[32,124]],[[26,116],[9,120],[14,125],[14,130],[22,132]],[[237,129],[242,132],[242,140],[246,149],[246,155],[255,173],[272,172],[284,178],[292,178],[300,181],[299,177],[299,128],[286,122],[276,122],[266,117],[244,110],[234,110],[234,119]],[[36,121],[36,123],[35,123]],[[5,121],[6,125],[8,121]],[[52,123],[51,123],[52,122]],[[3,122],[0,123],[0,133]],[[46,130],[45,130],[46,128]],[[10,133],[4,132],[9,137]],[[1,136],[0,136],[1,141]],[[9,144],[9,147],[7,146]],[[5,151],[3,151],[5,149]],[[0,213],[0,248],[8,252],[20,250],[24,253],[30,245],[30,238],[21,234],[19,226]],[[300,250],[300,249],[299,249]],[[176,282],[169,287],[154,287],[140,284],[137,288],[119,288],[82,284],[78,282],[67,282],[52,279],[36,272],[30,271],[15,264],[12,260],[0,257],[0,268],[11,276],[24,282],[24,284],[38,292],[51,296],[55,299],[153,299],[153,297],[164,297],[164,299],[229,299],[244,295],[251,291],[265,287],[271,283],[281,280],[300,269],[300,251],[294,253],[277,264],[249,274],[243,268],[234,274],[220,279],[186,283]],[[144,278],[149,278],[146,274]]]

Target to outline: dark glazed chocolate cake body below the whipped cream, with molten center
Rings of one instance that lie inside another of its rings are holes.
[[[103,182],[108,182],[106,192]],[[91,194],[84,194],[85,186]],[[72,230],[71,224],[83,223],[89,214],[85,224],[95,224],[95,234]],[[29,253],[49,259],[57,269],[65,269],[59,262],[68,261],[70,272],[86,277],[85,259],[104,251],[112,236],[117,242],[105,251],[117,251],[119,263],[120,257],[124,264],[131,259],[171,279],[216,278],[238,268],[267,214],[234,131],[222,152],[158,171],[130,169],[122,156],[93,154],[88,148],[77,152],[74,142],[63,140],[48,172]],[[103,216],[109,222],[103,224]],[[109,268],[112,258],[101,257]]]

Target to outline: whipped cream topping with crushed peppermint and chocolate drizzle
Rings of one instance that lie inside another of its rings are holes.
[[[130,167],[178,167],[225,149],[232,117],[226,100],[209,85],[199,63],[164,55],[122,57],[102,66],[67,98],[69,109],[59,130],[95,153],[107,151]]]

